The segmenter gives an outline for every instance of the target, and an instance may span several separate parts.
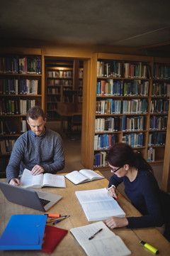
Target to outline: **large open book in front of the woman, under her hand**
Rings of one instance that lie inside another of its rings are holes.
[[[113,197],[108,196],[106,188],[75,193],[89,221],[106,220],[112,216],[125,217],[125,212]]]

